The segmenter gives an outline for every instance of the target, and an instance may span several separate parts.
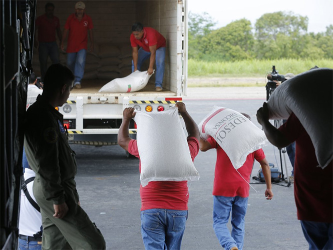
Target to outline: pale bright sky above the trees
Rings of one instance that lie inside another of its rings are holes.
[[[292,11],[296,15],[308,17],[308,32],[326,31],[326,26],[333,25],[333,0],[188,0],[188,11],[207,12],[219,28],[228,23],[246,18],[252,27],[265,13]]]

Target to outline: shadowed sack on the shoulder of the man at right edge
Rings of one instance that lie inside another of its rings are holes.
[[[333,158],[332,84],[333,69],[311,69],[284,81],[267,102],[271,119],[287,119],[292,112],[296,115],[322,168]]]

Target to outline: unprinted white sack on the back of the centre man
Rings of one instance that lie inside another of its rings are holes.
[[[137,111],[134,120],[142,186],[156,180],[199,179],[176,106],[161,112]]]

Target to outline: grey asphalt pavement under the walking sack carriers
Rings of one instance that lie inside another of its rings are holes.
[[[199,97],[194,95],[196,90],[191,89],[192,95],[184,98],[189,113],[197,123],[213,105],[218,105],[248,113],[259,126],[255,113],[262,105],[265,93],[260,97],[239,96],[238,99],[228,99],[221,98],[217,90],[209,98],[199,100],[202,89],[198,89]],[[118,145],[72,145],[72,148],[77,154],[76,181],[81,205],[101,229],[107,249],[144,249],[140,232],[139,160],[127,158],[125,151]],[[279,150],[271,144],[264,146],[263,150],[268,161],[280,168]],[[287,154],[282,155],[287,160],[287,172],[283,163],[286,176],[290,174],[291,165]],[[215,150],[199,152],[195,158],[194,164],[200,173],[200,180],[189,186],[189,217],[182,249],[221,249],[212,228],[215,160]],[[256,162],[251,176],[256,176],[258,169],[259,164]],[[293,184],[289,187],[284,181],[274,184],[274,197],[266,200],[265,184],[253,182],[251,185],[256,191],[250,188],[244,249],[308,249],[296,217]]]

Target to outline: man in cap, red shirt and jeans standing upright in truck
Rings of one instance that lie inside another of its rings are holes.
[[[93,21],[85,13],[86,5],[82,1],[75,4],[75,13],[71,14],[66,21],[61,49],[64,50],[64,41],[68,35],[67,42],[67,65],[74,72],[74,87],[81,88],[81,80],[84,74],[86,55],[88,49],[88,31],[90,37],[90,49],[94,49]]]

